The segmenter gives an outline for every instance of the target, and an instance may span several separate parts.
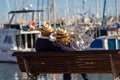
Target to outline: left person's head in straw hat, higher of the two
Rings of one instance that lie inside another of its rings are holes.
[[[42,35],[42,36],[49,37],[50,34],[55,31],[55,28],[54,28],[54,27],[51,27],[49,23],[45,23],[45,24],[40,28],[40,31],[41,31],[41,35]]]

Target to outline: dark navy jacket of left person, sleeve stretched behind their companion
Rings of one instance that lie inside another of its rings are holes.
[[[38,38],[35,43],[36,51],[75,51],[74,49],[58,45],[48,38]]]

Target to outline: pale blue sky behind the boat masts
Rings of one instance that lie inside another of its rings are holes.
[[[0,20],[4,19],[9,11],[16,9],[23,9],[32,4],[31,9],[37,9],[38,0],[0,0]],[[47,0],[39,0],[39,4],[42,4],[43,8],[47,9]],[[51,1],[51,0],[49,0]],[[96,3],[98,1],[98,3]],[[118,0],[120,2],[120,0]],[[67,3],[69,8],[67,8]],[[60,17],[66,17],[66,11],[69,11],[69,17],[80,16],[83,12],[83,0],[55,0],[56,9]],[[104,0],[85,0],[84,12],[88,12],[86,16],[96,15],[102,17]],[[119,9],[120,11],[120,9]],[[107,15],[115,15],[115,0],[107,0],[106,13]]]

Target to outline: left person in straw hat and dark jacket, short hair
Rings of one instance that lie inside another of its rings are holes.
[[[40,28],[41,36],[36,40],[35,43],[35,50],[37,52],[40,51],[51,51],[51,46],[53,44],[52,41],[50,41],[50,34],[55,31],[54,27],[51,27],[49,23],[45,23]],[[48,80],[47,74],[44,74],[44,79]]]

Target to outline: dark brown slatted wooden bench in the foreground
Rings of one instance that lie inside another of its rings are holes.
[[[14,52],[19,68],[39,73],[120,73],[120,50]]]

